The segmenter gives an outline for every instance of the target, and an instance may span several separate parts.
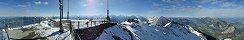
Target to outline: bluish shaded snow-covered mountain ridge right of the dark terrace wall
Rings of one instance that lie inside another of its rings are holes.
[[[171,25],[171,22],[169,22],[165,26],[175,25]],[[105,33],[105,31],[107,33]],[[137,25],[117,25],[105,29],[105,31],[96,40],[130,40],[131,38],[133,40],[204,40],[198,36],[199,34],[195,34],[197,31],[192,32],[192,30],[187,30],[184,27],[165,28],[161,26],[149,26],[149,24],[145,23]]]

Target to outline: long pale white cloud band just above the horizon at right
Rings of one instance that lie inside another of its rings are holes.
[[[162,14],[160,16],[189,16],[189,17],[240,17],[244,14],[242,9],[206,9],[206,8],[183,8],[176,10],[152,10],[145,13]]]

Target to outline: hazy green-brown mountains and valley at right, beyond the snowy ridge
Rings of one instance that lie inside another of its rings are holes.
[[[244,38],[244,18],[173,18],[172,21],[190,25],[194,29],[201,31],[216,39],[243,40]]]

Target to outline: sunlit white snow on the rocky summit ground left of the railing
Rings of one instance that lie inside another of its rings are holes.
[[[60,34],[59,27],[52,27],[48,21],[30,24],[22,27],[8,28],[10,38],[14,39],[33,39],[45,37],[45,40],[72,40],[67,29],[65,33]],[[6,31],[6,30],[5,30]],[[6,34],[6,33],[4,33]],[[7,38],[7,36],[5,37]]]

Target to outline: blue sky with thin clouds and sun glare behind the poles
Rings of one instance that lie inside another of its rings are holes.
[[[111,15],[240,17],[244,0],[109,0]],[[0,16],[58,16],[58,0],[0,0]],[[67,12],[65,0],[64,13]],[[71,16],[105,15],[106,0],[70,0]],[[65,14],[66,15],[66,14]]]

